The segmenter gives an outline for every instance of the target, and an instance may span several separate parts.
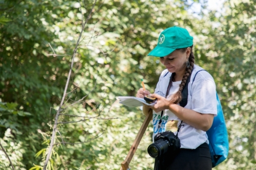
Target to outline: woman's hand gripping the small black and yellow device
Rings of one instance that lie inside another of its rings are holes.
[[[171,104],[166,98],[162,97],[161,95],[157,94],[150,94],[150,96],[157,98],[156,104],[153,106],[149,106],[155,112],[161,112],[162,110],[168,109],[169,105]]]

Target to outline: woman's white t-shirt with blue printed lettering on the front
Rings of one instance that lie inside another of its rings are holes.
[[[206,71],[200,71],[203,68],[194,65],[194,70],[191,74],[191,79],[188,84],[188,103],[185,106],[187,109],[192,109],[196,112],[202,114],[214,114],[217,115],[217,100],[216,100],[216,86],[212,76]],[[194,80],[193,86],[191,86],[195,74],[196,78]],[[165,93],[169,84],[171,77],[171,72],[165,69],[157,83],[155,93],[165,97]],[[169,91],[168,97],[178,91],[179,84],[181,81],[173,82],[171,89]],[[167,97],[167,98],[168,98]],[[158,124],[161,117],[161,112],[153,111],[153,137],[158,133]],[[177,127],[179,126],[181,120],[170,110],[164,110],[162,115],[162,124],[159,132],[165,132],[167,130],[177,134]],[[206,132],[199,130],[182,122],[182,126],[178,137],[180,139],[181,148],[186,149],[196,149],[200,144],[206,142],[209,143]]]

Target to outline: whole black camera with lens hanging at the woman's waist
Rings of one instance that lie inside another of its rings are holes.
[[[147,152],[152,158],[159,157],[167,151],[177,151],[180,148],[179,138],[171,131],[156,134],[154,141],[147,148]]]

